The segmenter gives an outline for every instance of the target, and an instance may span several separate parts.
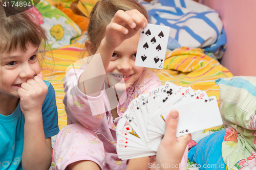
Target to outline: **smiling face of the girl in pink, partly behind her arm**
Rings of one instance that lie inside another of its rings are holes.
[[[141,76],[144,67],[135,66],[139,33],[138,31],[133,37],[124,40],[114,51],[109,67],[106,70],[106,72],[111,72],[111,74],[107,74],[109,81],[112,82],[110,82],[111,86],[121,81],[123,77],[125,89],[128,89]],[[120,86],[118,88],[119,90],[123,89]]]

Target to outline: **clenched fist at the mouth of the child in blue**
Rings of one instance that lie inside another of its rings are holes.
[[[20,108],[26,117],[41,113],[42,103],[44,103],[47,92],[48,86],[42,80],[42,74],[28,79],[21,85],[21,88],[18,89]]]

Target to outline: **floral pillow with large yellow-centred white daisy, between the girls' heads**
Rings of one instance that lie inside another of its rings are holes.
[[[35,7],[44,20],[40,26],[45,30],[49,42],[47,50],[69,45],[72,38],[81,35],[77,24],[47,1],[41,0]]]

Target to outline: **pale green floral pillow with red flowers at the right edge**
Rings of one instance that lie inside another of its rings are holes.
[[[220,87],[220,112],[228,125],[222,143],[227,169],[256,164],[256,77],[216,80]]]

